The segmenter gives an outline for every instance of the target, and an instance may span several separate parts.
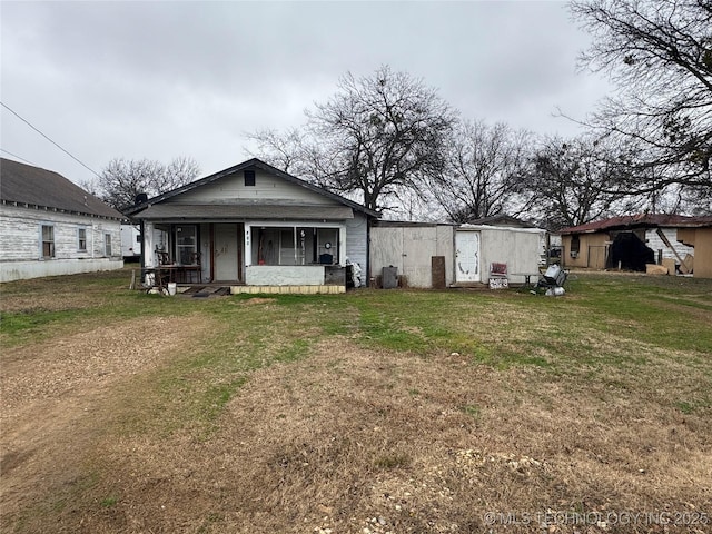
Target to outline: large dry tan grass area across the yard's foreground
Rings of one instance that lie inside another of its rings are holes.
[[[105,441],[96,462],[111,476],[95,488],[96,505],[62,514],[62,524],[471,533],[485,532],[487,512],[709,511],[710,409],[685,415],[650,402],[651,377],[616,377],[626,387],[561,382],[535,367],[495,372],[457,355],[334,338],[307,359],[256,372],[210,441],[190,432]],[[548,532],[576,532],[553,523]],[[584,526],[577,532],[663,532]]]

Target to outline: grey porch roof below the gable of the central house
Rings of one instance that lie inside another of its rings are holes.
[[[139,219],[353,219],[348,206],[284,206],[284,205],[185,205],[158,204],[135,215]]]

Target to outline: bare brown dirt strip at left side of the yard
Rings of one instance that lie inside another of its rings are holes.
[[[144,318],[3,350],[3,516],[83,476],[81,461],[111,418],[106,402],[206,328],[202,318]]]

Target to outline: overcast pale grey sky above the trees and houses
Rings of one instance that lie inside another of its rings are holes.
[[[339,77],[422,78],[462,117],[572,136],[605,95],[577,72],[590,37],[558,1],[0,3],[1,100],[90,169],[249,157],[245,134],[304,123]],[[2,157],[93,178],[1,108]]]

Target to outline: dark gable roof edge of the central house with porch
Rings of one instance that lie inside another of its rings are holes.
[[[178,195],[181,195],[186,191],[190,191],[192,189],[196,189],[198,187],[202,187],[206,186],[208,184],[212,184],[216,180],[219,180],[220,178],[224,178],[226,176],[233,175],[235,172],[239,172],[241,170],[246,170],[246,169],[261,169],[266,172],[269,172],[271,175],[278,176],[279,178],[289,181],[291,184],[295,184],[297,186],[304,187],[305,189],[309,189],[310,191],[317,192],[324,197],[330,198],[332,200],[336,200],[345,206],[348,206],[349,208],[353,208],[357,211],[362,211],[370,217],[380,217],[380,214],[378,211],[374,211],[372,209],[366,208],[365,206],[362,206],[358,202],[355,202],[353,200],[349,200],[348,198],[342,197],[340,195],[336,195],[332,191],[328,191],[322,187],[315,186],[314,184],[309,184],[308,181],[305,181],[300,178],[297,178],[296,176],[293,176],[288,172],[285,172],[283,170],[277,169],[276,167],[273,167],[269,164],[266,164],[264,161],[261,161],[260,159],[257,158],[253,158],[253,159],[248,159],[247,161],[243,161],[241,164],[238,164],[234,167],[229,167],[225,170],[220,170],[218,172],[215,172],[214,175],[207,176],[205,178],[201,178],[199,180],[192,181],[186,186],[179,187],[177,189],[174,189],[172,191],[168,191],[165,192],[162,195],[158,195],[156,197],[149,198],[148,200],[146,200],[145,202],[138,204],[136,206],[132,206],[130,208],[127,208],[125,210],[125,212],[127,215],[130,216],[139,216],[139,214],[144,210],[146,210],[147,208],[160,204],[164,200],[167,200],[169,198],[176,197]],[[141,214],[141,217],[144,216],[144,214]]]

